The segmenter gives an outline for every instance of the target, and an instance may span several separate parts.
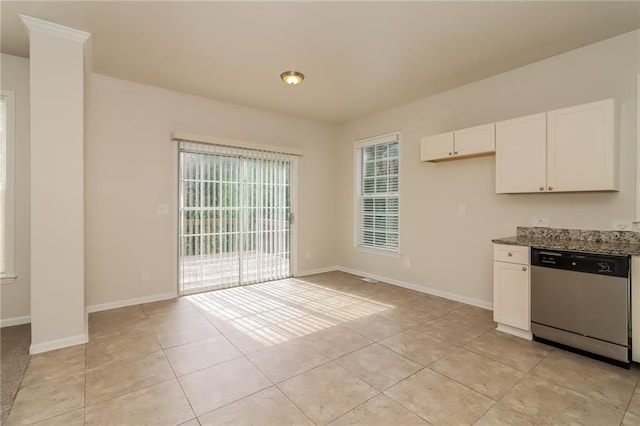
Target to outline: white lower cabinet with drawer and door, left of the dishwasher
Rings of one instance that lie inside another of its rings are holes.
[[[531,339],[529,247],[494,245],[493,320],[498,330]]]

